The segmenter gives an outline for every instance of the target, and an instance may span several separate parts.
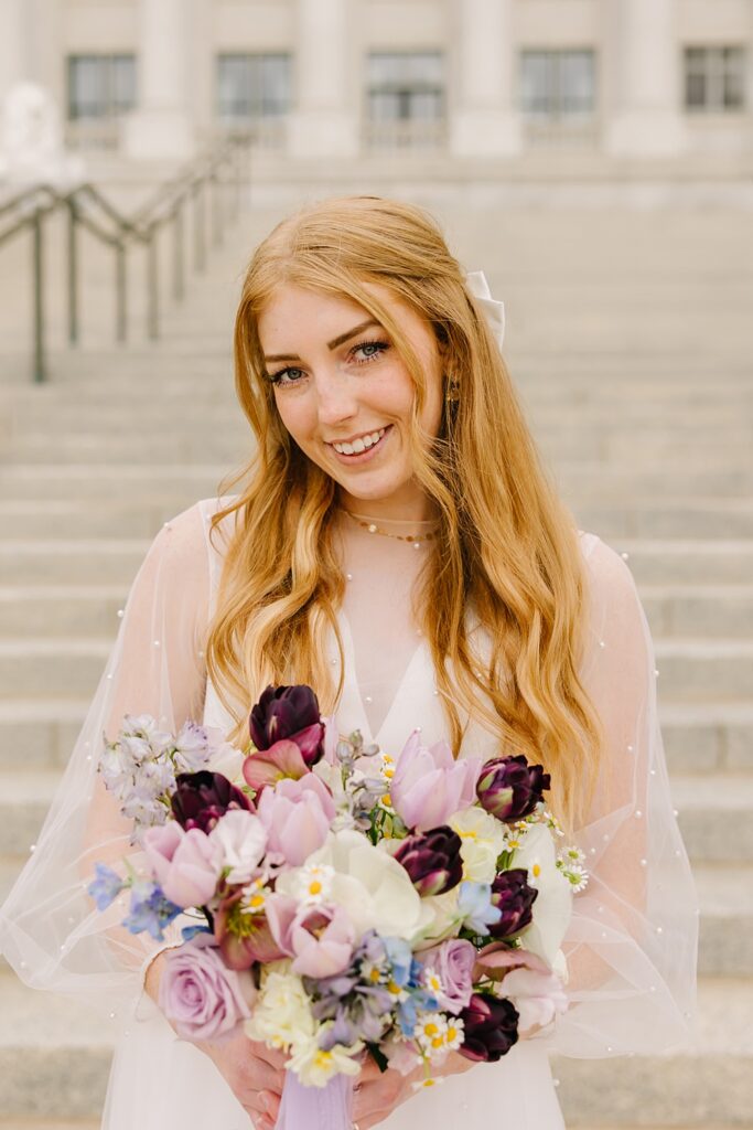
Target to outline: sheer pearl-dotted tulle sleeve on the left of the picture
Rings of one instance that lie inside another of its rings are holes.
[[[99,913],[86,892],[95,862],[117,866],[130,855],[138,863],[97,762],[103,734],[115,738],[125,713],[152,714],[168,730],[201,721],[216,505],[196,503],[151,544],[36,849],[0,910],[0,949],[34,988],[82,993],[112,1009],[138,996],[157,949],[148,935],[117,925],[123,896]]]

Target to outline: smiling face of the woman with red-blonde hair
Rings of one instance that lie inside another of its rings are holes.
[[[374,286],[413,347],[426,376],[421,425],[436,436],[443,379],[430,327]],[[259,319],[280,418],[300,450],[341,487],[345,506],[419,520],[426,499],[413,480],[409,424],[413,382],[383,327],[349,298],[286,285]]]

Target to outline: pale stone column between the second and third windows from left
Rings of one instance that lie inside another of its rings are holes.
[[[352,67],[359,44],[349,36],[352,0],[298,0],[297,99],[289,124],[295,157],[348,157],[358,153],[359,92]]]

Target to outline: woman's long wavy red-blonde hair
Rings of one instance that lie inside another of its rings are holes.
[[[246,272],[235,380],[257,447],[224,489],[246,485],[213,520],[239,512],[207,646],[210,677],[237,721],[233,737],[244,733],[247,712],[269,683],[308,683],[326,712],[343,684],[336,486],[282,425],[257,333],[260,313],[283,284],[360,304],[385,328],[414,383],[415,478],[441,523],[419,579],[417,610],[455,754],[461,716],[473,715],[499,734],[500,755],[524,753],[544,763],[552,806],[576,825],[588,799],[585,783],[596,777],[602,736],[578,678],[586,602],[575,521],[540,462],[459,264],[435,223],[406,203],[348,197],[309,206],[274,228]],[[457,388],[434,440],[419,424],[426,376],[374,284],[434,328],[445,380]],[[487,659],[469,638],[469,607],[491,641]],[[330,632],[340,652],[336,679],[325,658]]]

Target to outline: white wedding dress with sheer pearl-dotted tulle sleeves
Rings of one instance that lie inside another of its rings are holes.
[[[116,861],[129,851],[126,826],[95,776],[103,731],[114,737],[125,712],[151,713],[168,728],[203,716],[208,727],[229,729],[203,663],[222,560],[222,531],[214,544],[209,539],[217,505],[198,503],[155,539],[37,850],[0,912],[0,949],[23,980],[85,994],[116,1014],[106,1130],[252,1124],[210,1060],[177,1040],[141,992],[156,944],[117,928],[122,906],[99,914],[86,895],[94,862]],[[429,650],[411,614],[426,549],[373,536],[344,518],[339,529],[348,576],[339,730],[360,729],[391,753],[400,751],[415,725],[428,744],[436,741],[446,736],[446,723]],[[404,523],[395,530],[405,532]],[[650,635],[621,557],[593,534],[581,533],[580,544],[589,582],[589,645],[580,673],[607,749],[592,812],[577,836],[590,881],[576,898],[567,936],[571,1006],[553,1031],[522,1040],[500,1062],[419,1092],[380,1123],[385,1130],[560,1130],[550,1052],[655,1052],[680,1043],[688,1029],[697,903],[669,799]],[[483,635],[476,644],[482,653]],[[334,637],[330,659],[336,662]],[[471,751],[500,753],[473,719],[461,756]]]

